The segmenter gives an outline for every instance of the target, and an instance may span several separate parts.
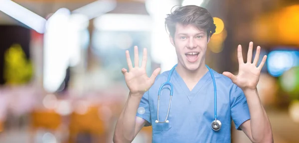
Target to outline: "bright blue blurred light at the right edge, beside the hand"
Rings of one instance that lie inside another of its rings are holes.
[[[298,66],[298,51],[272,51],[268,55],[268,71],[272,76],[280,76],[283,72]]]

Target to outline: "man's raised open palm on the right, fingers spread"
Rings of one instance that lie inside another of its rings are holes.
[[[244,63],[243,56],[242,56],[242,47],[241,45],[238,46],[238,61],[239,61],[239,72],[238,75],[234,75],[231,72],[223,72],[223,75],[229,77],[233,83],[238,85],[242,90],[256,90],[257,84],[260,79],[261,70],[266,62],[267,56],[263,57],[261,64],[257,67],[261,47],[257,47],[257,52],[254,58],[253,63],[252,61],[252,51],[253,51],[253,42],[249,43],[249,49],[247,54],[247,63]]]

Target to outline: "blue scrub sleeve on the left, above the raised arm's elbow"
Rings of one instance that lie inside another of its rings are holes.
[[[151,125],[149,111],[149,91],[147,91],[141,98],[136,116],[143,118],[148,122],[145,125],[146,127]]]

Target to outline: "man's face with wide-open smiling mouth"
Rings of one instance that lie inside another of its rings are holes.
[[[199,30],[193,25],[176,24],[174,38],[170,37],[171,44],[175,47],[178,66],[189,71],[197,70],[205,60],[208,38],[205,30]]]

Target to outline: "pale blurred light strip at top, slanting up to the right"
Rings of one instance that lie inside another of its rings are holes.
[[[116,3],[116,0],[96,0],[74,10],[73,13],[86,15],[88,20],[90,20],[113,10],[116,7]]]

